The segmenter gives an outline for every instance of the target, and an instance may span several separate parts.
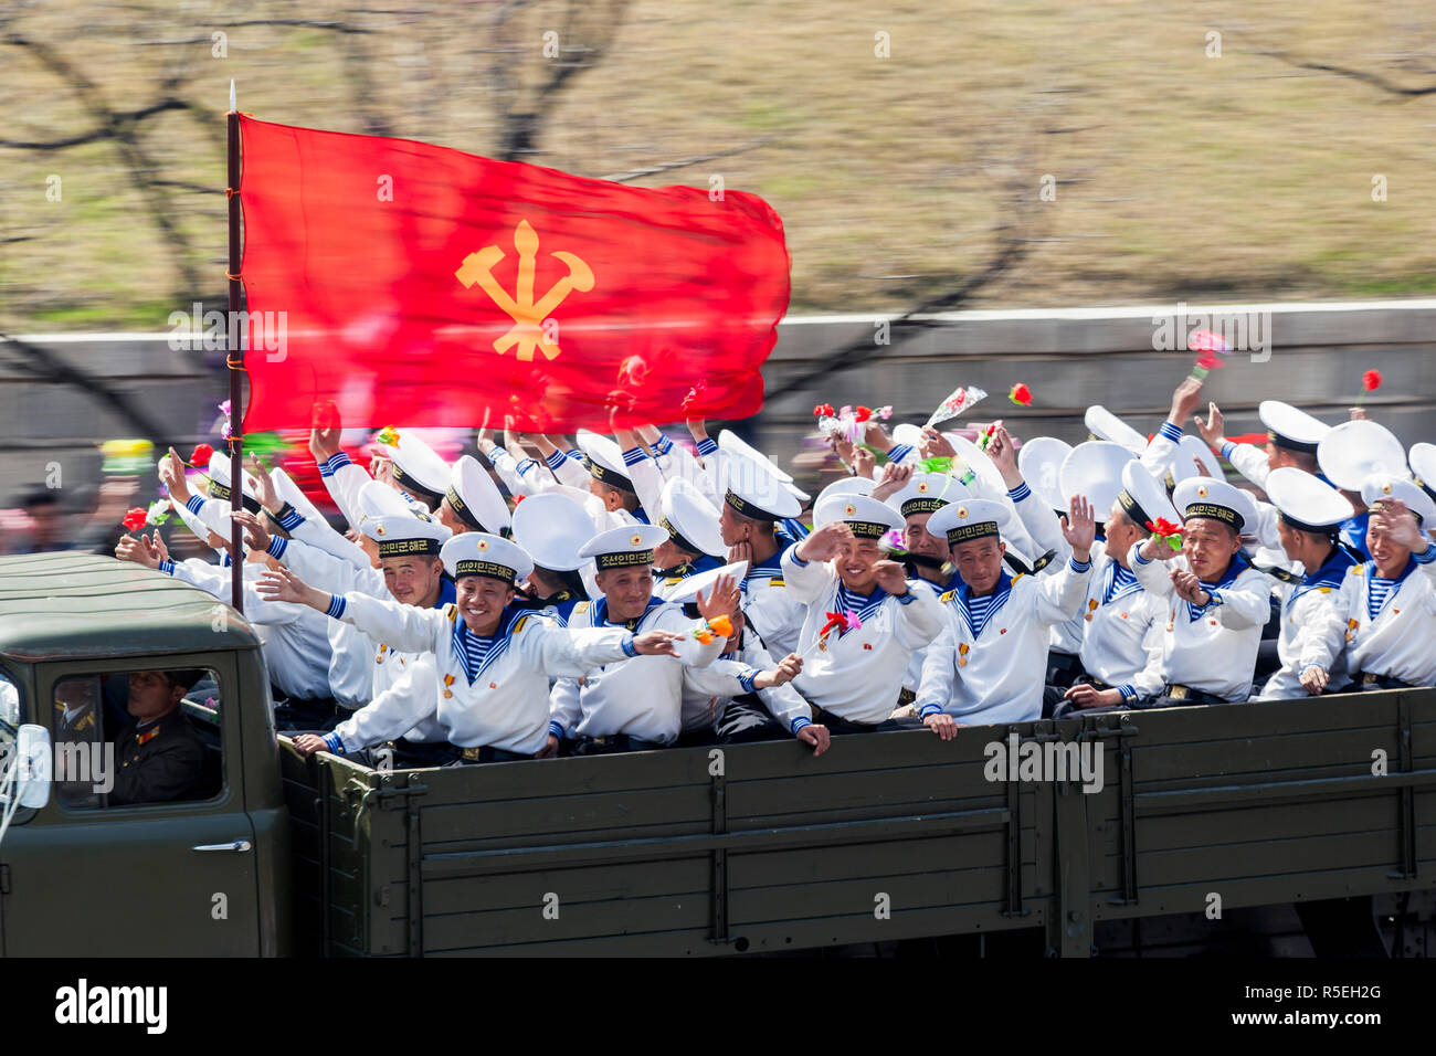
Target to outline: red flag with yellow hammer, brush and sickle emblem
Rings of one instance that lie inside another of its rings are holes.
[[[605,432],[763,407],[788,251],[761,198],[240,128],[246,432],[323,399],[345,425]]]

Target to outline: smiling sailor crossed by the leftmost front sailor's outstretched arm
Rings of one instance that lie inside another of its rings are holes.
[[[653,524],[628,524],[600,532],[579,552],[597,565],[603,596],[580,602],[570,628],[622,626],[635,634],[672,631],[681,635],[676,655],[653,655],[607,664],[580,680],[560,678],[550,694],[549,746],[557,751],[577,741],[573,754],[643,751],[668,747],[682,730],[685,667],[707,667],[724,648],[724,636],[695,639],[701,625],[684,611],[653,596],[653,549],[668,532]],[[731,616],[737,585],[722,580],[699,595],[704,619]]]

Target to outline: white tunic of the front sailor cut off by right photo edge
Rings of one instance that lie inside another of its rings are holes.
[[[1350,672],[1384,675],[1407,685],[1436,685],[1436,546],[1412,555],[1394,580],[1376,563],[1353,565],[1341,585],[1346,634],[1328,641],[1321,665],[1331,671],[1346,644]]]

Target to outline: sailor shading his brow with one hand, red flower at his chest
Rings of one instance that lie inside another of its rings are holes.
[[[882,537],[903,526],[896,510],[859,494],[831,494],[813,510],[813,534],[783,552],[791,596],[803,606],[803,674],[793,687],[837,733],[893,728],[903,672],[942,629],[925,588],[886,560]]]

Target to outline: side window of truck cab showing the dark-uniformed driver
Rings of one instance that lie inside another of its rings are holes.
[[[69,809],[220,795],[221,691],[214,671],[145,670],[55,682],[55,792]]]

